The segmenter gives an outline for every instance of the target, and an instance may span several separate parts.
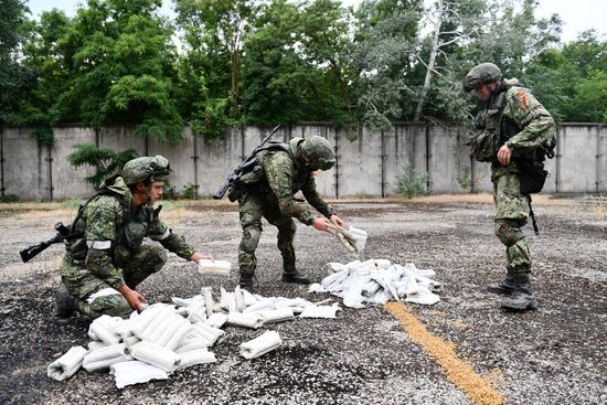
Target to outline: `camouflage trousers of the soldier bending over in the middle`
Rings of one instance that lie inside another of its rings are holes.
[[[297,226],[290,215],[278,207],[278,200],[271,193],[246,193],[238,200],[238,212],[243,236],[238,246],[238,267],[241,274],[254,274],[257,268],[255,251],[262,236],[262,217],[278,228],[278,249],[283,260],[295,263],[292,241]]]

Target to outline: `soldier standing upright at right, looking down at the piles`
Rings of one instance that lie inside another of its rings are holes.
[[[502,301],[507,310],[535,308],[531,291],[531,255],[521,227],[529,220],[528,195],[521,193],[521,167],[524,161],[544,159],[544,146],[554,138],[554,120],[531,92],[518,79],[502,79],[492,63],[473,67],[462,79],[466,92],[475,90],[486,103],[477,116],[478,132],[471,140],[472,156],[491,162],[494,232],[505,245],[505,280],[488,290],[509,296]]]

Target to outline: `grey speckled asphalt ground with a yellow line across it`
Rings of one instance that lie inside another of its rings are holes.
[[[29,264],[24,246],[52,236],[74,205],[0,205],[0,403],[2,404],[607,404],[607,209],[576,199],[536,198],[540,236],[525,228],[539,309],[508,313],[484,286],[504,276],[489,195],[337,201],[344,220],[369,232],[362,259],[387,258],[433,268],[444,284],[432,307],[343,309],[337,319],[271,324],[284,345],[259,359],[238,345],[263,330],[226,328],[212,351],[219,362],[175,372],[167,381],[116,388],[107,373],[84,370],[65,382],[47,365],[88,342],[88,321],[67,327],[50,317],[62,246]],[[201,252],[236,263],[235,205],[164,203],[162,215]],[[298,225],[299,269],[315,280],[328,262],[353,259],[329,235]],[[276,231],[265,225],[258,248],[258,292],[328,298],[279,281]],[[150,302],[190,297],[202,286],[233,289],[230,278],[200,275],[170,255],[138,287]]]

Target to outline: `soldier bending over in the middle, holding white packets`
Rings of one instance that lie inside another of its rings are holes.
[[[336,159],[327,139],[313,136],[294,138],[288,143],[270,142],[256,154],[257,163],[230,190],[238,200],[243,236],[238,246],[239,285],[253,287],[257,267],[255,249],[262,235],[262,216],[278,228],[278,249],[283,256],[283,281],[309,284],[295,267],[294,219],[318,231],[331,231],[343,221],[334,214],[316,190],[313,172],[329,170]],[[294,199],[300,191],[308,203],[324,217],[315,215]]]

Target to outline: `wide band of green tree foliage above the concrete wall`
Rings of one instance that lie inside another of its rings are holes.
[[[460,79],[481,62],[560,121],[607,121],[605,36],[562,43],[535,0],[175,0],[174,21],[160,6],[87,0],[31,21],[3,0],[0,122],[41,140],[61,122],[129,124],[172,143],[185,124],[207,141],[237,124],[460,125],[477,103]]]

